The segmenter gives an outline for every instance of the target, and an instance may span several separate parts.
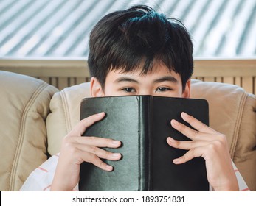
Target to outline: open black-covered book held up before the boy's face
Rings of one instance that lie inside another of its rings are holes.
[[[83,136],[112,138],[122,142],[118,161],[103,160],[114,171],[103,171],[91,163],[80,166],[80,191],[209,191],[205,161],[196,157],[175,165],[173,159],[187,152],[166,142],[168,136],[189,138],[170,126],[176,119],[187,126],[181,112],[209,124],[208,103],[204,99],[160,96],[112,96],[83,99],[80,119],[105,112],[102,121],[89,127]]]

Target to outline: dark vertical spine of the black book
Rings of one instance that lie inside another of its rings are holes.
[[[151,96],[139,102],[139,191],[151,191]]]

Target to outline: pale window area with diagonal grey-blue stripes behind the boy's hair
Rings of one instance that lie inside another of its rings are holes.
[[[131,4],[179,18],[193,38],[194,57],[256,55],[256,1],[3,0],[0,57],[87,57],[92,26]]]

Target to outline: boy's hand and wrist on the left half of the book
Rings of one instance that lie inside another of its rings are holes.
[[[80,164],[92,163],[105,171],[111,171],[112,166],[104,163],[105,160],[120,160],[121,154],[107,152],[100,147],[117,148],[120,141],[106,138],[83,137],[83,133],[96,121],[100,121],[105,113],[98,113],[81,120],[63,139],[60,157],[52,182],[52,191],[72,191],[79,181]]]

